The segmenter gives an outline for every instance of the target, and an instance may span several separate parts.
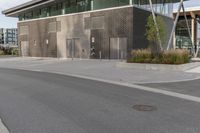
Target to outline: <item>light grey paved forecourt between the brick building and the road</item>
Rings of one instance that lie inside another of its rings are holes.
[[[64,60],[54,58],[3,58],[0,67],[80,75],[122,83],[161,83],[199,79],[200,74],[119,68],[116,60]]]

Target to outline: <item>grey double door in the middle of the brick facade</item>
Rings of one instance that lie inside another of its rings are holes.
[[[67,39],[67,58],[81,58],[81,45],[79,38]]]

